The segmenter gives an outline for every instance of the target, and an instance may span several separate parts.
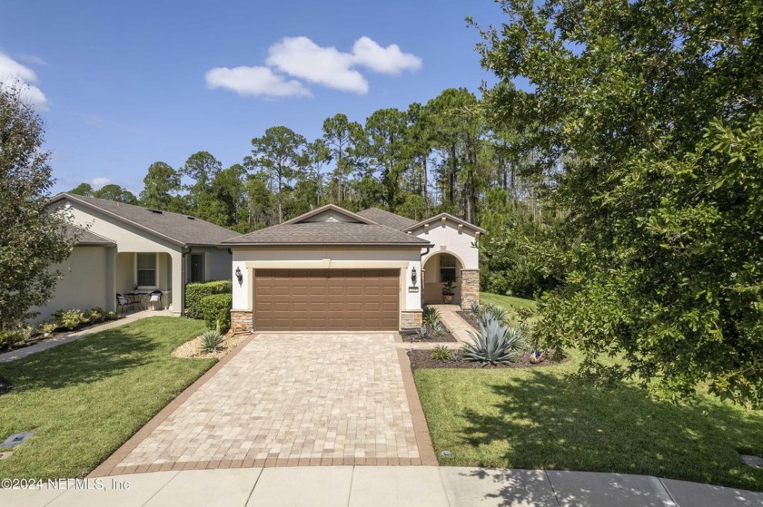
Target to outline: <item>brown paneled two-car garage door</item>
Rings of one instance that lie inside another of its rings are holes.
[[[396,330],[399,269],[255,269],[258,331]]]

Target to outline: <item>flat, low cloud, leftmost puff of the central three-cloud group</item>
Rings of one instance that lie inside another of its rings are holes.
[[[209,88],[227,88],[240,95],[308,97],[311,94],[299,81],[287,81],[268,67],[215,67],[204,74],[204,79]]]

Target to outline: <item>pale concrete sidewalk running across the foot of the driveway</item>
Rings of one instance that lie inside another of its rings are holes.
[[[763,506],[763,493],[645,475],[436,466],[136,473],[0,490],[4,507]],[[85,483],[86,481],[86,483]],[[85,489],[89,488],[89,489]]]

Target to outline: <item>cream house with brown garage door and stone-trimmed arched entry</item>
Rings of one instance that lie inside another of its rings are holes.
[[[484,230],[443,213],[420,222],[372,208],[327,205],[223,241],[233,252],[232,321],[255,331],[398,330],[421,305],[480,298]]]

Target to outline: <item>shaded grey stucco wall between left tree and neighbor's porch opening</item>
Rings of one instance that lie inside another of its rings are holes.
[[[56,310],[110,308],[111,293],[107,283],[110,248],[74,247],[72,255],[62,264],[51,267],[59,269],[63,278],[58,280],[53,297],[45,307],[35,307],[40,314],[29,321],[35,325],[47,320]]]

